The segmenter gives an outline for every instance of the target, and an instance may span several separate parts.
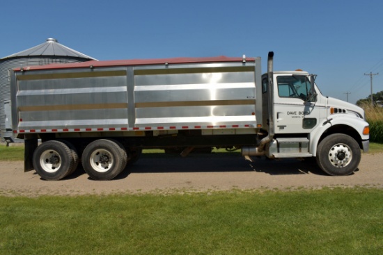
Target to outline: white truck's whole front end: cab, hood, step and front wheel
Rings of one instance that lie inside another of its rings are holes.
[[[322,95],[315,77],[302,70],[263,74],[262,120],[269,134],[265,154],[315,157],[328,174],[350,174],[359,164],[360,149],[368,151],[364,110]]]

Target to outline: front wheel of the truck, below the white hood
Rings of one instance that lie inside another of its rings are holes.
[[[342,133],[327,136],[318,145],[317,163],[330,175],[352,174],[361,161],[361,149],[354,138]]]

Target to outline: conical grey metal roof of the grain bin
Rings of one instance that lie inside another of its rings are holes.
[[[54,38],[48,38],[47,41],[42,44],[32,47],[31,49],[26,49],[25,51],[20,51],[16,54],[6,56],[1,58],[1,60],[6,58],[22,58],[27,56],[67,56],[72,58],[95,60],[95,58],[81,54],[79,51],[70,49],[63,44],[59,44]]]

